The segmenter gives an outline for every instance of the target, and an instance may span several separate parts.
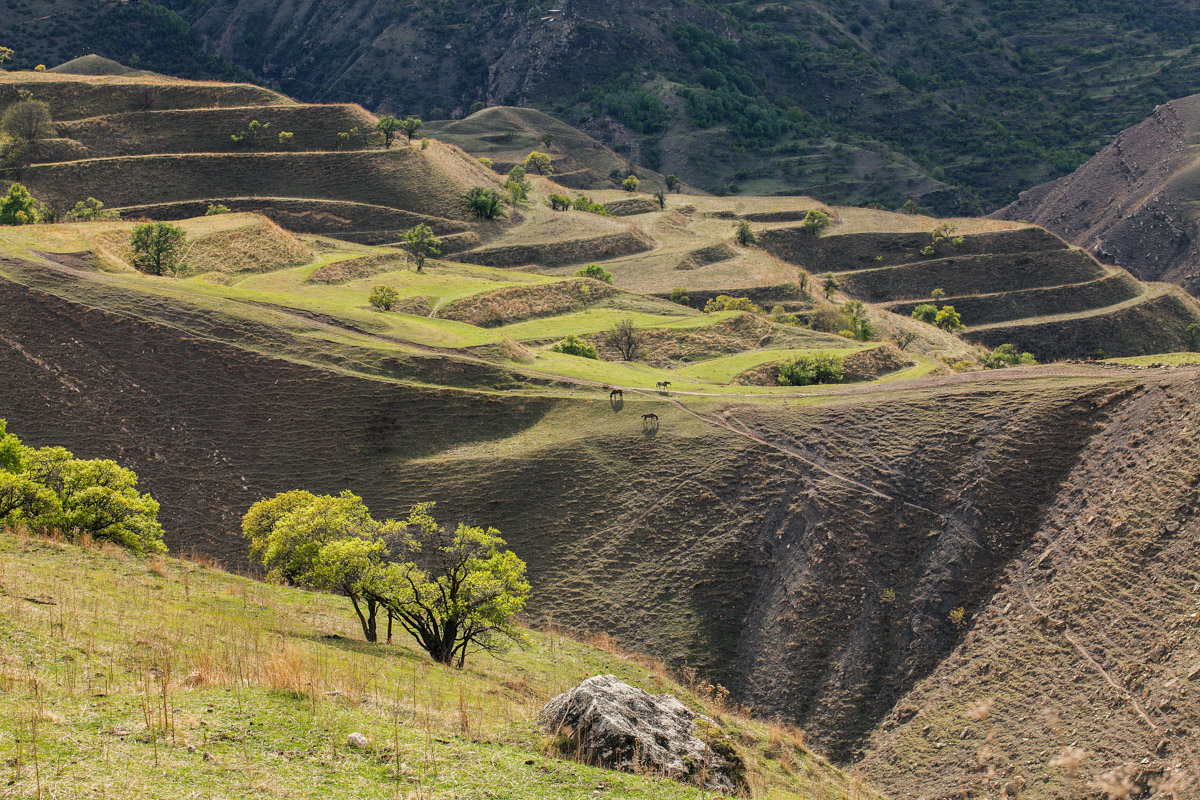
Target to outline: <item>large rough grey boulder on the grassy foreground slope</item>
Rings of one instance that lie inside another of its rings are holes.
[[[588,678],[547,703],[539,715],[563,750],[588,764],[732,792],[737,754],[714,745],[713,736],[724,739],[724,734],[707,717],[698,718],[707,728],[706,739],[696,735],[697,716],[677,698],[650,694],[614,675]]]

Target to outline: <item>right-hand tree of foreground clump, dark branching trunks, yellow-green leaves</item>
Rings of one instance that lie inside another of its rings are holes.
[[[494,528],[451,530],[432,510],[418,504],[404,521],[409,535],[388,571],[389,613],[434,661],[460,668],[473,651],[524,644],[517,626],[529,597],[524,561]]]

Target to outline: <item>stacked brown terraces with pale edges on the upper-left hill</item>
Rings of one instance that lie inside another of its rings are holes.
[[[19,178],[59,213],[86,197],[168,219],[221,203],[298,230],[382,242],[418,222],[467,234],[479,225],[463,193],[497,185],[494,173],[442,143],[383,149],[376,118],[358,106],[140,72],[0,74],[0,107],[20,92],[49,106],[60,138]],[[270,127],[253,144],[233,142],[252,121]],[[293,136],[282,142],[281,132]]]

